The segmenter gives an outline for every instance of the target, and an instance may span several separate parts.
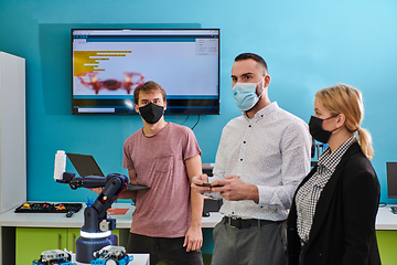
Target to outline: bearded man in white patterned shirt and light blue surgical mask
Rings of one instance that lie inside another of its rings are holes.
[[[308,125],[270,102],[270,75],[259,55],[238,55],[232,81],[243,115],[223,129],[214,177],[192,180],[200,193],[223,199],[212,265],[286,264],[285,220],[310,170]]]

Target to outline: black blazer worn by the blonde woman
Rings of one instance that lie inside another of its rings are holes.
[[[314,174],[316,167],[299,184]],[[379,203],[379,181],[357,142],[342,157],[325,184],[315,208],[304,265],[380,264],[375,218]],[[301,243],[297,232],[296,195],[287,219],[289,265],[298,265]]]

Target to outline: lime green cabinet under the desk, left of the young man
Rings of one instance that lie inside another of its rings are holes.
[[[15,229],[15,265],[32,264],[43,251],[67,250],[76,252],[79,229]],[[112,231],[118,236],[118,230]]]

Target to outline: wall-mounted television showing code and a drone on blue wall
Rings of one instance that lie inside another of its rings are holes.
[[[72,114],[136,114],[133,89],[167,92],[165,114],[219,114],[219,29],[72,29]]]

